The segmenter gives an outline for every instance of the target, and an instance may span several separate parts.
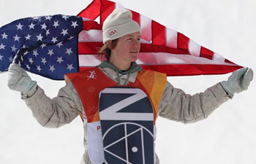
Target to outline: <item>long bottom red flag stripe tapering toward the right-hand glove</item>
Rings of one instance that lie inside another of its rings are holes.
[[[151,69],[167,74],[167,76],[191,76],[200,74],[227,74],[242,66],[203,65],[203,64],[171,64],[142,66],[143,69]]]

